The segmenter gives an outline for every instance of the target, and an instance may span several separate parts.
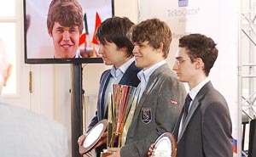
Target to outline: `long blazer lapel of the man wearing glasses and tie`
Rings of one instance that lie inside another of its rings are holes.
[[[195,99],[193,100],[191,107],[189,109],[189,113],[187,115],[186,120],[184,121],[184,126],[183,126],[183,130],[181,130],[180,135],[178,135],[177,137],[177,143],[179,142],[179,140],[181,139],[181,137],[183,136],[184,131],[186,130],[186,127],[189,125],[189,121],[192,118],[192,116],[195,113],[195,110],[198,108],[198,106],[201,104],[201,99],[206,95],[206,93],[209,91],[209,88],[212,87],[212,83],[211,81],[207,82],[207,84],[201,88],[201,90],[199,91],[199,93],[196,94]],[[177,131],[178,132],[178,131]]]

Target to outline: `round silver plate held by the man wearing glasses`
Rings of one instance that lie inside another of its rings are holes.
[[[177,151],[177,142],[174,135],[170,132],[165,132],[160,135],[155,141],[154,154],[158,157],[175,157]]]

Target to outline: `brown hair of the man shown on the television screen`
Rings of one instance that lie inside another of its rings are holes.
[[[79,26],[79,33],[84,29],[83,10],[77,0],[52,0],[47,15],[47,28],[52,31],[55,22],[62,26]]]

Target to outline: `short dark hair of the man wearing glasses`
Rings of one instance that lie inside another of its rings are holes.
[[[186,48],[189,58],[193,62],[201,58],[205,64],[205,73],[208,76],[218,57],[218,49],[212,38],[201,34],[190,34],[179,39],[178,47]]]

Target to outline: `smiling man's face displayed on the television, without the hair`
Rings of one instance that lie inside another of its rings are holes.
[[[55,22],[52,31],[49,31],[55,47],[55,58],[74,58],[79,48],[79,26],[67,27]]]

